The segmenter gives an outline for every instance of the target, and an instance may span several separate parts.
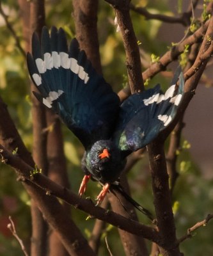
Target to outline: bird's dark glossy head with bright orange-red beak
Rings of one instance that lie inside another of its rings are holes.
[[[111,140],[100,140],[91,147],[86,163],[91,174],[100,182],[106,183],[118,179],[125,160]]]

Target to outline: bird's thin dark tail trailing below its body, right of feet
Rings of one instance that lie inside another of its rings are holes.
[[[142,207],[140,204],[138,204],[138,202],[136,202],[130,195],[128,195],[125,190],[123,189],[123,187],[120,185],[120,183],[118,184],[111,184],[109,191],[111,191],[111,193],[113,193],[114,196],[116,196],[118,198],[118,196],[116,195],[117,193],[119,193],[120,195],[122,195],[130,204],[132,204],[134,207],[136,207],[136,209],[138,209],[138,211],[142,212],[143,214],[145,214],[150,220],[154,220],[154,217],[152,215],[152,213],[150,211],[148,211],[147,209],[145,209],[144,207]],[[118,198],[119,200],[119,198]],[[120,200],[119,200],[120,201]],[[120,202],[122,204],[122,202]],[[124,205],[122,204],[122,206],[124,207]],[[125,209],[125,207],[124,207]],[[126,209],[125,209],[126,210]]]

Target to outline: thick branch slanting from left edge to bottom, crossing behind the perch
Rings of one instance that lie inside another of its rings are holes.
[[[29,154],[28,150],[24,146],[17,129],[13,124],[12,118],[8,113],[6,104],[4,104],[1,98],[0,116],[0,143],[10,151],[18,148],[18,154],[21,159],[25,163],[28,163],[28,166],[35,166],[31,154]],[[33,167],[31,167],[31,169],[33,169]],[[26,191],[28,191],[31,198],[35,200],[36,205],[42,210],[43,215],[51,227],[57,232],[58,237],[65,246],[67,252],[74,256],[94,256],[94,253],[90,246],[88,246],[86,239],[84,239],[80,230],[76,227],[74,221],[70,219],[67,211],[63,209],[57,198],[47,196],[45,191],[39,189],[38,186],[28,180],[25,180],[22,184]],[[63,216],[63,218],[61,218],[61,216]],[[79,246],[77,246],[76,241],[79,241]],[[81,246],[82,244],[83,246]]]

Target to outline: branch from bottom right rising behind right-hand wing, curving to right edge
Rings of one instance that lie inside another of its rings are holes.
[[[193,67],[189,69],[194,70],[194,73],[191,75],[190,78],[185,76],[188,79],[185,83],[184,100],[182,102],[182,106],[180,106],[180,108],[178,109],[178,115],[176,116],[175,121],[172,124],[173,127],[175,124],[177,124],[177,121],[179,120],[180,116],[183,115],[184,110],[187,108],[189,101],[193,97],[193,92],[196,89],[201,74],[203,73],[203,70],[207,65],[207,62],[210,56],[212,55],[212,31],[213,18],[211,17],[203,43],[201,44],[200,51],[198,52],[198,56],[194,61]],[[209,55],[207,55],[207,52]],[[166,253],[170,253],[168,255],[173,255],[171,254],[170,250],[175,250],[176,252],[174,255],[179,255],[180,253],[178,252],[178,248],[175,247],[175,244],[177,244],[175,236],[175,225],[171,209],[170,193],[168,191],[168,175],[166,172],[166,164],[164,163],[165,159],[162,143],[162,141],[165,140],[166,136],[168,136],[170,131],[171,127],[168,127],[168,129],[165,129],[164,132],[162,132],[163,140],[161,137],[155,140],[154,142],[150,143],[150,145],[148,145],[148,152],[150,156],[150,168],[153,180],[152,186],[154,191],[154,204],[157,216],[157,226],[159,227],[159,234],[161,234],[162,239],[165,239],[166,237],[164,248],[160,247],[160,251],[166,248]],[[168,237],[170,238],[168,239]],[[167,244],[168,242],[169,244]]]

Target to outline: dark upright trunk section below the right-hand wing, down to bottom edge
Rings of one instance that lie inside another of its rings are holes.
[[[158,243],[159,249],[162,255],[180,255],[178,247],[174,246],[177,239],[163,143],[157,140],[150,143],[148,153],[157,227],[162,239],[161,245]]]

